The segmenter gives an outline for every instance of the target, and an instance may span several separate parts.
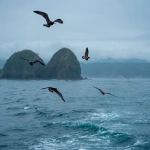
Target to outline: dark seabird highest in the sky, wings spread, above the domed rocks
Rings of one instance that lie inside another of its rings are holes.
[[[46,19],[46,22],[47,24],[43,24],[43,26],[46,26],[46,27],[50,27],[51,25],[53,25],[55,22],[58,22],[58,23],[63,23],[63,21],[61,19],[56,19],[54,21],[51,21],[48,17],[48,15],[45,13],[45,12],[42,12],[42,11],[33,11],[41,16],[43,16],[45,19]]]

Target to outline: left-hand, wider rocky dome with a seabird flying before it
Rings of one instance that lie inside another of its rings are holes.
[[[43,60],[31,50],[23,50],[20,52],[16,52],[6,61],[2,70],[2,78],[8,79],[40,78],[40,72],[42,71],[44,66],[41,66],[39,63],[30,66],[28,61],[20,59],[21,57],[29,59],[31,61],[37,59],[43,62]]]

